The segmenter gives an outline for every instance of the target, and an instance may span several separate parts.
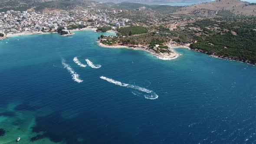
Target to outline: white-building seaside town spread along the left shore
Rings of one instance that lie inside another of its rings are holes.
[[[121,12],[122,10],[118,10]],[[52,33],[58,27],[69,33],[70,29],[96,28],[98,26],[125,26],[128,19],[118,20],[107,15],[118,13],[101,10],[69,10],[53,12],[14,11],[0,13],[0,33],[3,36]],[[0,36],[0,39],[3,38]]]

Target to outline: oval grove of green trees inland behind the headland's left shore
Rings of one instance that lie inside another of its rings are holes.
[[[122,36],[131,36],[136,34],[147,33],[148,29],[143,26],[128,26],[128,27],[120,27],[118,32],[121,33]]]

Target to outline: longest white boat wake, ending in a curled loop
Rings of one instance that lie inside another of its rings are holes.
[[[104,79],[108,82],[111,82],[115,85],[119,85],[119,86],[124,86],[124,87],[127,87],[127,88],[132,88],[132,89],[136,89],[136,90],[139,90],[141,92],[145,92],[145,93],[148,93],[149,95],[144,95],[145,98],[147,99],[157,99],[158,98],[158,95],[154,92],[154,91],[151,91],[149,89],[146,89],[146,88],[141,88],[137,85],[130,85],[130,84],[125,84],[125,83],[122,83],[122,82],[118,82],[118,81],[115,81],[114,79],[109,79],[105,76],[101,76],[100,77],[101,79]]]

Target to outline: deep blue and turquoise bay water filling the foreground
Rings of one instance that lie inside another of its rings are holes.
[[[99,47],[99,35],[0,41],[0,144],[256,141],[255,66],[187,49],[164,61]]]

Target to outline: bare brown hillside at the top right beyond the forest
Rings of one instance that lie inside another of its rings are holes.
[[[206,14],[209,11],[218,13],[230,13],[233,15],[256,16],[256,4],[241,0],[215,0],[210,3],[200,3],[179,9],[174,14]]]

